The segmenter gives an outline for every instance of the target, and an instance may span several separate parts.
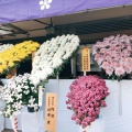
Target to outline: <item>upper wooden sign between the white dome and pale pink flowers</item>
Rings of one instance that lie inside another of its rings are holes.
[[[82,72],[90,72],[90,48],[81,50],[81,69]]]

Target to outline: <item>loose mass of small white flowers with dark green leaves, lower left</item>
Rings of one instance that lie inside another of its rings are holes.
[[[35,87],[30,79],[30,74],[13,76],[8,85],[0,87],[1,98],[6,100],[6,108],[2,111],[6,118],[18,114],[24,105],[38,109],[38,87]]]

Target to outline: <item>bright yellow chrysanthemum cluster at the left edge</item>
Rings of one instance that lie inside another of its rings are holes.
[[[24,61],[33,52],[37,51],[40,44],[33,41],[25,41],[23,43],[15,44],[0,53],[0,74],[15,67],[16,64]]]

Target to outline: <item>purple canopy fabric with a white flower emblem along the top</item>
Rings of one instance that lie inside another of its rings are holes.
[[[0,0],[0,24],[132,4],[132,0]]]

